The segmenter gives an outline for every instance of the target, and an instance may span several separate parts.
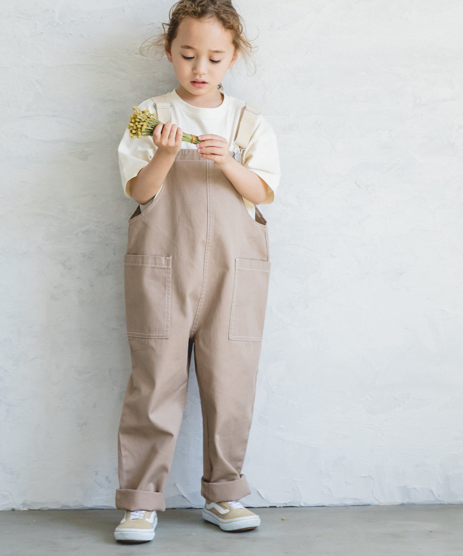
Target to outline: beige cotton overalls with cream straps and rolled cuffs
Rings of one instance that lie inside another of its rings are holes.
[[[153,100],[160,120],[170,121],[166,97]],[[257,115],[246,103],[235,136],[241,153]],[[253,220],[225,173],[196,148],[181,148],[151,205],[142,212],[138,206],[128,220],[124,283],[132,373],[118,430],[116,508],[166,509],[162,491],[193,344],[203,418],[201,494],[213,502],[250,494],[241,468],[270,265],[267,222],[257,207]]]

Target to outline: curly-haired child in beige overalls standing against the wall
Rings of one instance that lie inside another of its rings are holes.
[[[180,0],[162,34],[179,82],[142,102],[152,136],[118,148],[122,185],[138,203],[125,255],[132,373],[118,431],[118,540],[155,536],[185,406],[194,345],[203,418],[203,518],[254,529],[239,499],[270,275],[266,220],[280,180],[275,132],[257,107],[220,90],[249,43],[230,0]],[[194,133],[197,145],[182,142]]]

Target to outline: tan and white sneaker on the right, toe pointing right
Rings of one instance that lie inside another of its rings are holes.
[[[218,525],[223,531],[247,531],[261,524],[261,518],[238,500],[211,502],[206,500],[202,517]]]

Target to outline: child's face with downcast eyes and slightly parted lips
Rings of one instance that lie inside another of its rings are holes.
[[[180,85],[195,96],[216,96],[222,81],[238,58],[232,44],[232,34],[215,17],[182,19],[171,51],[166,55]],[[203,81],[195,85],[193,81]]]

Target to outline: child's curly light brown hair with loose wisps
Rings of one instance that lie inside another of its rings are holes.
[[[155,35],[153,40],[151,40],[153,37],[150,37],[143,41],[140,47],[142,56],[144,56],[143,44],[148,43],[147,51],[151,47],[155,47],[155,49],[161,52],[160,58],[162,58],[166,42],[168,49],[170,49],[173,39],[177,36],[178,26],[185,17],[192,17],[194,19],[215,17],[222,23],[225,29],[230,29],[235,52],[241,52],[245,61],[252,59],[251,53],[253,49],[258,49],[258,47],[252,46],[250,40],[246,37],[243,19],[236,11],[231,0],[178,0],[169,11],[169,22],[162,23],[162,32]],[[254,68],[256,70],[255,63]],[[222,83],[217,88],[221,89]]]

